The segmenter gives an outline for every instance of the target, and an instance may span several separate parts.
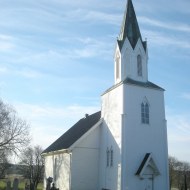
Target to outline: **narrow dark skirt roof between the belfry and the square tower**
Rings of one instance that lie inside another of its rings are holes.
[[[149,82],[149,81],[140,82],[140,81],[132,80],[130,78],[126,78],[124,81],[121,81],[120,83],[117,83],[116,85],[114,85],[111,88],[109,88],[108,90],[106,90],[103,94],[106,94],[107,92],[110,92],[111,90],[115,89],[116,87],[118,87],[121,84],[132,84],[132,85],[141,86],[141,87],[145,87],[145,88],[153,88],[153,89],[163,90],[164,91],[163,88],[159,87],[158,85],[156,85],[156,84],[154,84],[152,82]]]

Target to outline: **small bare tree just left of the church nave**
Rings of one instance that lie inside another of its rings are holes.
[[[34,187],[30,188],[31,190],[37,189],[39,182],[43,180],[44,159],[41,153],[42,148],[40,146],[28,147],[20,157],[23,173],[26,178],[30,179],[30,187]]]

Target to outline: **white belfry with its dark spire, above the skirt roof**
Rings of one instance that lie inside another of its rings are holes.
[[[132,1],[128,0],[115,50],[115,84],[126,78],[147,82],[147,63],[147,43],[142,40]]]

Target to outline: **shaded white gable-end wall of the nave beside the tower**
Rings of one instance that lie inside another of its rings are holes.
[[[97,127],[72,150],[72,190],[98,189],[99,136]]]

